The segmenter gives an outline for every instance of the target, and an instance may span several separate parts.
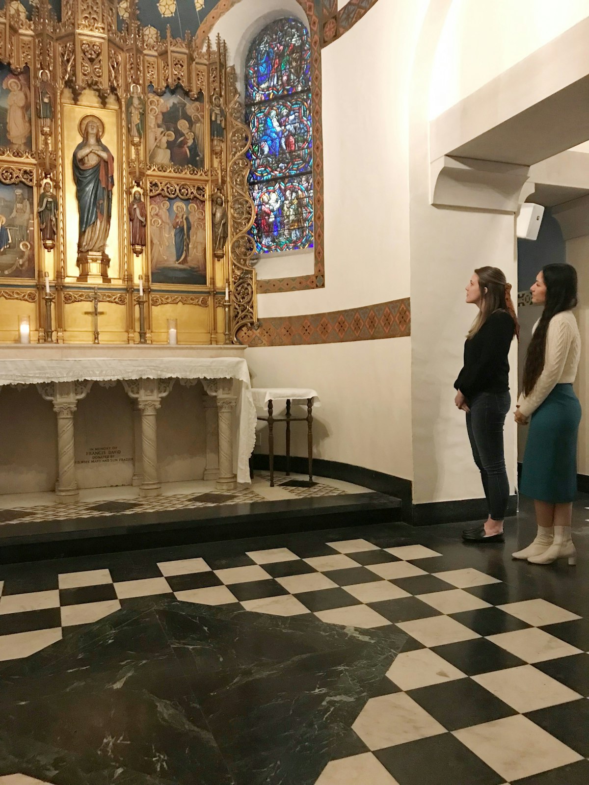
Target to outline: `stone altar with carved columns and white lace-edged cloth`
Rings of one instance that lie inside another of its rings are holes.
[[[244,347],[0,346],[0,494],[170,480],[249,483],[256,411]]]

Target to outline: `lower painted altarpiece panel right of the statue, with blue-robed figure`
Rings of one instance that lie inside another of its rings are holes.
[[[149,203],[153,283],[207,284],[207,224],[202,202],[155,196]]]

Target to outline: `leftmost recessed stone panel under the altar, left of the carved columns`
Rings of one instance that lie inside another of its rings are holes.
[[[57,419],[35,385],[0,388],[0,433],[0,494],[53,491]]]

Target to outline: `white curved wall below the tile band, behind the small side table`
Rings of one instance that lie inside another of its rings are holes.
[[[365,466],[411,479],[411,339],[350,341],[248,349],[254,387],[309,386],[321,398],[313,410],[316,458]],[[275,426],[284,455],[284,425]],[[260,448],[267,451],[267,432]],[[306,425],[292,425],[291,451],[306,455]]]

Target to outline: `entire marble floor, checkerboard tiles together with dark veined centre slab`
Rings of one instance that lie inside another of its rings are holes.
[[[0,783],[586,785],[586,504],[0,566]]]

